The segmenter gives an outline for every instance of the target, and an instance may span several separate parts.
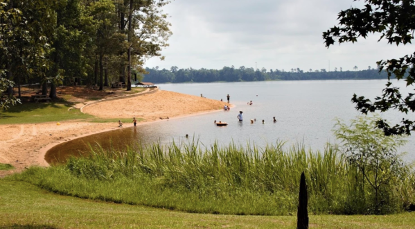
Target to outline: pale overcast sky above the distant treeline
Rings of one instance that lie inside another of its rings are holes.
[[[353,0],[175,0],[164,6],[173,35],[170,46],[145,67],[222,69],[240,66],[304,71],[376,67],[378,60],[414,52],[412,45],[378,42],[379,34],[357,43],[324,45],[322,33],[338,24],[337,14]]]

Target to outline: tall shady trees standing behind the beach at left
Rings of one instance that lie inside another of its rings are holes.
[[[161,56],[172,35],[164,0],[0,1],[1,92],[42,85],[56,98],[60,85],[125,82]],[[136,78],[134,78],[135,80]],[[99,87],[99,88],[98,88]],[[3,103],[4,101],[2,101]]]

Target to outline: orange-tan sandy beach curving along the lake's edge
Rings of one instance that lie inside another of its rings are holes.
[[[222,110],[225,103],[200,96],[179,94],[159,90],[125,99],[110,99],[91,103],[82,112],[101,118],[144,119],[144,121],[166,121]],[[139,123],[139,124],[140,124]],[[123,125],[131,127],[132,123]],[[12,164],[16,169],[0,171],[0,176],[22,171],[27,167],[48,166],[44,155],[56,144],[118,128],[118,123],[89,123],[85,121],[60,121],[42,124],[0,125],[0,163]]]

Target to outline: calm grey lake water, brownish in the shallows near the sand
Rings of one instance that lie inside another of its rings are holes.
[[[180,119],[166,119],[133,128],[122,128],[108,133],[91,135],[55,146],[46,154],[46,161],[65,158],[73,152],[86,151],[88,144],[97,144],[123,149],[126,145],[142,142],[170,143],[192,141],[193,137],[201,144],[209,146],[214,142],[228,145],[231,142],[247,143],[263,147],[275,144],[278,140],[286,145],[301,143],[311,149],[324,149],[327,142],[335,142],[333,137],[334,119],[346,123],[360,113],[351,103],[353,94],[373,99],[382,93],[386,80],[312,80],[312,81],[272,81],[254,83],[188,83],[160,84],[161,90],[193,94],[209,99],[223,99],[231,96],[235,108],[230,111],[213,112]],[[394,85],[405,92],[404,82],[394,81]],[[247,105],[252,101],[252,105]],[[236,118],[243,112],[244,121]],[[411,114],[413,116],[413,114]],[[399,121],[403,114],[392,111],[380,114],[389,121]],[[272,122],[276,117],[277,122]],[[250,119],[256,119],[251,124]],[[229,125],[218,127],[213,121],[225,121]],[[264,120],[264,124],[262,123]],[[186,139],[184,136],[190,137]],[[406,151],[405,160],[415,159],[415,138],[408,137],[408,143],[400,149]]]

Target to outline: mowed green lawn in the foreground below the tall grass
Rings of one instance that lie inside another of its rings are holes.
[[[0,180],[0,228],[296,228],[296,217],[191,214],[89,201]],[[310,228],[415,228],[415,213],[310,215]]]

